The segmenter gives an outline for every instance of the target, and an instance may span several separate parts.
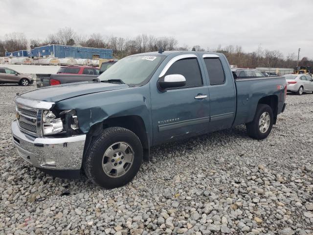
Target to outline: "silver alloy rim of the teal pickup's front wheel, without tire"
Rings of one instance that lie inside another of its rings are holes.
[[[118,178],[125,175],[134,163],[134,150],[129,143],[115,142],[104,152],[102,157],[103,172]]]

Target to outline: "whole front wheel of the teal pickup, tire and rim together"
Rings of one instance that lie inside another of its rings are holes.
[[[91,141],[84,159],[87,177],[103,188],[129,183],[143,159],[139,138],[130,130],[110,127]]]

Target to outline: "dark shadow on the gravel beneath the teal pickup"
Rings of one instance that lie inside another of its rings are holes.
[[[207,145],[207,144],[213,144],[213,142],[218,142],[221,145],[224,144],[232,144],[232,142],[238,141],[238,140],[246,140],[246,139],[250,139],[247,135],[246,135],[246,128],[244,125],[241,126],[237,126],[234,128],[229,128],[229,129],[225,129],[222,131],[216,131],[210,134],[205,134],[205,135],[201,135],[198,137],[192,137],[186,140],[182,140],[182,141],[173,141],[170,143],[165,143],[165,144],[161,144],[161,145],[157,145],[151,148],[150,151],[150,162],[146,162],[144,161],[142,163],[142,168],[141,168],[141,174],[145,175],[147,174],[150,170],[151,167],[157,167],[158,164],[162,164],[164,161],[167,161],[166,159],[162,158],[162,156],[164,155],[180,155],[180,158],[182,158],[182,153],[185,151],[194,151],[196,148],[199,147],[200,144],[202,145]],[[159,154],[159,153],[162,154]],[[22,160],[21,160],[22,161]],[[83,191],[89,191],[89,190],[107,190],[104,188],[100,188],[98,186],[96,186],[95,184],[93,184],[85,175],[85,173],[82,171],[81,175],[79,178],[77,179],[64,179],[64,178],[59,178],[59,177],[54,177],[51,176],[39,169],[36,169],[35,167],[32,167],[30,165],[24,166],[23,167],[24,170],[26,171],[36,171],[36,173],[34,174],[30,174],[32,175],[33,180],[40,180],[43,182],[47,182],[47,181],[53,181],[53,183],[57,186],[57,188],[63,188],[63,190],[60,190],[58,192],[55,192],[54,195],[55,196],[64,196],[67,194],[71,195],[71,188],[82,188],[81,192]],[[136,176],[136,177],[141,177],[141,176]],[[136,178],[135,177],[135,178]],[[132,183],[131,187],[135,187],[135,185],[133,185]],[[128,184],[130,186],[130,184]],[[122,188],[119,189],[125,189],[128,186],[124,186]],[[112,189],[110,189],[112,190]],[[110,191],[108,190],[108,191]],[[113,189],[114,190],[114,189]],[[66,193],[66,194],[64,194]],[[75,195],[77,192],[74,192],[73,194]]]

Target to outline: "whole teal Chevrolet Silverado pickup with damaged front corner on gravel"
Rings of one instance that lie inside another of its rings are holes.
[[[93,81],[18,94],[12,140],[50,174],[79,173],[104,188],[130,182],[153,145],[246,124],[268,136],[284,112],[284,77],[234,79],[221,53],[125,57]]]

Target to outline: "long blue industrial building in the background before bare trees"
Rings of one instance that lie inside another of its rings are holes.
[[[112,59],[112,49],[93,48],[93,47],[76,47],[66,45],[47,45],[43,47],[35,47],[30,51],[24,50],[26,53],[5,52],[6,56],[29,56],[29,57],[57,57],[57,58],[82,58],[82,59]],[[21,52],[21,51],[20,51]]]

